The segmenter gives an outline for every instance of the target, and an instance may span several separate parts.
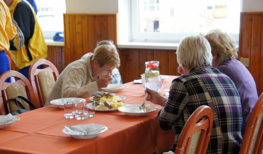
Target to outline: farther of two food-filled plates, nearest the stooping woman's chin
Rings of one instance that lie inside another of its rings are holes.
[[[103,94],[96,94],[93,97],[90,97],[89,99],[91,101],[112,102],[113,100],[123,101],[124,99],[126,99],[126,97],[119,94],[103,93]]]

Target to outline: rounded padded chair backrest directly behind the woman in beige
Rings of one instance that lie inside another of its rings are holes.
[[[40,65],[46,65],[44,69],[38,69]],[[45,105],[48,96],[53,89],[59,73],[54,64],[45,59],[36,60],[29,69],[29,81],[33,87],[35,95],[38,95],[37,107]]]

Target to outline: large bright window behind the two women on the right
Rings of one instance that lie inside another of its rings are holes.
[[[240,0],[137,0],[132,3],[133,42],[178,43],[219,28],[238,42]]]

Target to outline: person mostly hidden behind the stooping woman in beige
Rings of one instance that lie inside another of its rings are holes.
[[[100,45],[111,45],[112,47],[116,48],[114,42],[111,40],[100,41],[97,43],[97,47]],[[92,54],[93,54],[92,52],[86,53],[82,56],[82,59]],[[111,77],[112,77],[112,81],[110,84],[123,84],[122,76],[120,75],[119,70],[117,68],[112,70]]]

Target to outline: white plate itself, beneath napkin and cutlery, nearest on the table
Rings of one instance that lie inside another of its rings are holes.
[[[79,125],[77,125],[77,126],[79,126]],[[99,124],[94,124],[94,126],[95,126],[96,129],[102,129],[102,128],[106,127],[104,125],[99,125]],[[66,128],[64,128],[62,130],[62,132],[66,133],[66,134],[69,134],[74,139],[86,140],[86,139],[96,138],[100,133],[102,133],[102,132],[104,132],[106,130],[108,130],[108,127],[106,127],[103,130],[100,130],[100,132],[95,131],[94,133],[91,132],[91,133],[85,134],[85,135],[83,135],[83,134],[78,134],[78,135],[70,134],[68,131],[66,131]]]

